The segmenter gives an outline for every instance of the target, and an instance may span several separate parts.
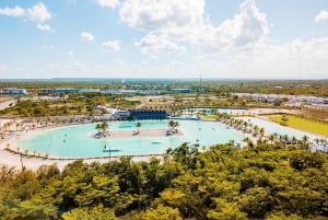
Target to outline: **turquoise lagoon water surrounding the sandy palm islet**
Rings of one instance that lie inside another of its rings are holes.
[[[137,130],[136,121],[109,123],[110,130]],[[167,128],[167,120],[141,121],[143,129]],[[108,157],[109,152],[103,152],[105,146],[110,147],[115,155],[148,155],[162,154],[168,148],[176,148],[184,142],[200,146],[226,143],[230,140],[241,142],[244,135],[234,129],[227,129],[218,121],[179,120],[179,129],[183,136],[165,136],[156,138],[133,137],[125,139],[96,139],[96,124],[74,125],[47,130],[39,135],[31,135],[17,139],[13,144],[20,149],[48,154],[49,158],[78,159]],[[144,130],[145,131],[145,130]]]

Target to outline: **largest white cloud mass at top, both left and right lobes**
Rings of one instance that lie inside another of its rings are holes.
[[[120,20],[129,26],[147,32],[140,43],[149,40],[149,36],[156,36],[161,42],[171,42],[174,47],[190,43],[214,51],[263,44],[269,23],[255,0],[245,0],[239,7],[241,12],[221,24],[210,21],[204,13],[204,0],[127,0],[119,14]],[[148,54],[162,54],[161,46],[148,50],[155,51]]]

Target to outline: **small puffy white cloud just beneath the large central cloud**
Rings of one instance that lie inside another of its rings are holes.
[[[148,54],[152,57],[157,57],[160,55],[172,53],[172,51],[184,51],[184,47],[179,46],[174,42],[167,40],[163,36],[156,36],[154,34],[149,34],[139,42],[136,46],[140,47],[143,54]]]

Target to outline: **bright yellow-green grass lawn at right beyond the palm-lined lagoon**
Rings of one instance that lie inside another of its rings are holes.
[[[270,115],[269,119],[274,123],[286,123],[288,126],[301,130],[306,130],[309,132],[323,135],[328,137],[328,125],[323,123],[317,123],[309,119],[300,118],[293,115],[285,115],[286,119],[282,120],[282,115]]]

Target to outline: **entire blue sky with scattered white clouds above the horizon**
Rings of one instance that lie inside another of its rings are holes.
[[[0,78],[328,79],[328,0],[1,0]]]

